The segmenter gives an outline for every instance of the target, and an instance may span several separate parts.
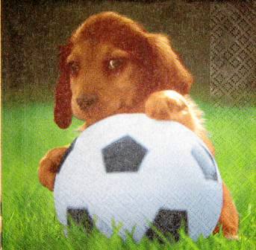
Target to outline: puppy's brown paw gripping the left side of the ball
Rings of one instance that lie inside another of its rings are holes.
[[[54,190],[55,176],[66,150],[66,147],[50,150],[40,161],[38,170],[40,182],[51,191]]]

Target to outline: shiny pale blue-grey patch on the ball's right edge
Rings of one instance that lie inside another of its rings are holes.
[[[202,147],[201,145],[194,146],[191,153],[199,164],[199,167],[201,167],[205,179],[217,181],[218,176],[216,172],[216,166],[213,161],[213,156],[210,155],[205,147]]]

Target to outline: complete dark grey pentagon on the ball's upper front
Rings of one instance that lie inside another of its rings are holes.
[[[137,172],[147,152],[146,147],[125,135],[102,149],[106,172]]]

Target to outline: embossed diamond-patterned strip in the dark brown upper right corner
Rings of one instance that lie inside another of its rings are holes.
[[[210,4],[210,93],[241,105],[256,91],[256,1]]]

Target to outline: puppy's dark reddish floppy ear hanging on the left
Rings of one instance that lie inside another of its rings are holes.
[[[66,129],[72,122],[72,92],[69,83],[69,68],[66,58],[71,53],[72,43],[60,46],[60,77],[55,89],[54,121],[61,129]]]

